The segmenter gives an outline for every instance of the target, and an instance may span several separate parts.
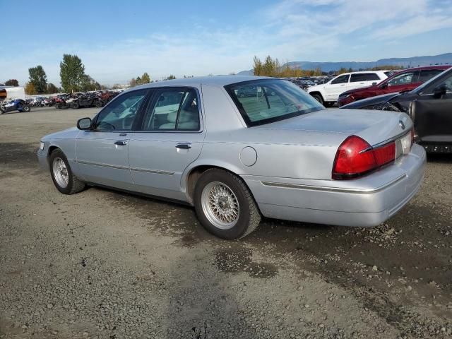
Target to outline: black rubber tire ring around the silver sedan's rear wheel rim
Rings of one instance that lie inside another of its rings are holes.
[[[201,196],[203,194],[204,187],[210,182],[222,182],[232,189],[237,201],[239,203],[239,220],[234,225],[234,227],[229,230],[220,230],[210,223],[206,215],[204,215],[203,207],[201,203]],[[246,192],[242,189],[233,174],[222,171],[220,169],[210,169],[204,173],[196,182],[196,187],[194,191],[194,206],[196,210],[196,215],[198,215],[198,220],[201,222],[208,232],[214,234],[222,239],[238,239],[246,232],[250,222],[250,206],[248,199],[246,198]]]

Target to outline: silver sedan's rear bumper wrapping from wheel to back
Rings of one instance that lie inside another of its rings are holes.
[[[426,156],[420,145],[396,164],[355,180],[243,179],[268,218],[327,225],[372,227],[386,221],[415,196]]]

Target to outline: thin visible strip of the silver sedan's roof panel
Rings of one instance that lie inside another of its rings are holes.
[[[263,79],[275,79],[268,76],[200,76],[195,78],[180,78],[174,80],[157,81],[155,83],[146,83],[133,87],[131,89],[136,90],[138,88],[155,88],[155,87],[177,87],[177,86],[198,86],[198,85],[210,85],[214,87],[223,87],[230,85],[231,83],[241,83],[243,81],[263,80]]]

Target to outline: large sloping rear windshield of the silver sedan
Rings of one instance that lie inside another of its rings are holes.
[[[265,79],[225,86],[248,126],[268,124],[325,109],[290,81]]]

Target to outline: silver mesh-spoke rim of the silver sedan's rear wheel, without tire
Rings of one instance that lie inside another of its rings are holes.
[[[208,220],[221,230],[229,230],[239,220],[239,201],[222,182],[210,182],[203,189],[201,205]]]

